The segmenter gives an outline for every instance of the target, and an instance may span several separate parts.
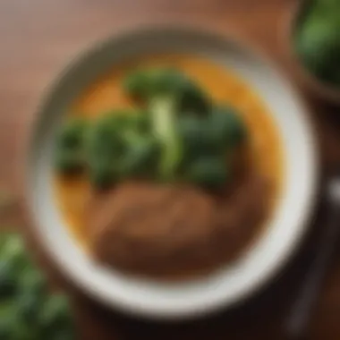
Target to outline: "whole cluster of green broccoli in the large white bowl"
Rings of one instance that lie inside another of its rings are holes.
[[[132,72],[123,89],[137,108],[64,124],[62,157],[56,153],[60,168],[85,167],[97,189],[130,178],[205,187],[228,180],[229,156],[246,139],[233,107],[214,105],[194,81],[171,68]]]

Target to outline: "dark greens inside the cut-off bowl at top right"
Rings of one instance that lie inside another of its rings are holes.
[[[340,2],[306,1],[294,37],[302,62],[321,81],[340,87]]]

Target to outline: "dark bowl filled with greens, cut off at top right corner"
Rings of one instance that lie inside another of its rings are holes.
[[[340,104],[340,3],[304,0],[289,21],[289,49],[296,72],[320,98]]]

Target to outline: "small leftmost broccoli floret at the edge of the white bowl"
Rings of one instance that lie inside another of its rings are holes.
[[[79,173],[84,165],[84,137],[87,128],[82,118],[68,119],[56,139],[55,167],[63,174]]]

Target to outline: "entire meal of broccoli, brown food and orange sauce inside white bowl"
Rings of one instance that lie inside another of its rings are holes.
[[[190,276],[236,259],[278,197],[281,150],[266,106],[193,55],[115,68],[84,91],[55,143],[55,190],[98,262]]]

